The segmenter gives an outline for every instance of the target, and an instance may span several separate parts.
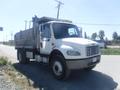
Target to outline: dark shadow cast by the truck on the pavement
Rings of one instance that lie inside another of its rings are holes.
[[[32,80],[35,88],[44,88],[44,90],[114,90],[117,83],[112,77],[92,70],[72,71],[69,79],[66,81],[56,80],[50,73],[47,65],[31,62],[30,64],[15,63],[14,67]]]

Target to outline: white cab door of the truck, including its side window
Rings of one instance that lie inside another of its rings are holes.
[[[49,55],[52,50],[52,39],[51,39],[51,29],[50,24],[41,25],[40,34],[40,53]]]

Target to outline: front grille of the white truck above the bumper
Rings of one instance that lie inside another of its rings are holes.
[[[96,55],[99,53],[99,46],[88,46],[86,48],[87,56]]]

